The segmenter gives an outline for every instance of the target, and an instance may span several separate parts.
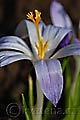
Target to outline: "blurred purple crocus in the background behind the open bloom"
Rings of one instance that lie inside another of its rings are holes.
[[[68,28],[71,29],[74,33],[74,39],[73,42],[80,42],[79,39],[75,39],[76,37],[76,33],[72,24],[72,21],[69,17],[69,15],[67,14],[67,12],[65,11],[64,7],[58,2],[58,0],[52,1],[51,3],[51,7],[50,7],[50,14],[51,14],[51,20],[52,23],[55,26],[60,26],[60,27],[64,27],[64,28]],[[68,39],[64,39],[60,46],[66,46],[67,44],[69,44],[70,42],[70,38],[72,36],[72,33],[68,34]]]

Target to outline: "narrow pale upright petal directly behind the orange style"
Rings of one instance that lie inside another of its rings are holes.
[[[35,25],[34,25],[34,23],[32,23],[28,20],[26,20],[25,22],[26,22],[26,27],[28,28],[28,34],[30,37],[30,42],[32,45],[34,55],[36,58],[38,58],[38,51],[37,51],[36,46],[35,46],[35,43],[38,42]],[[41,21],[41,23],[39,24],[40,36],[42,36],[42,31],[43,31],[44,27],[45,27],[45,24]]]

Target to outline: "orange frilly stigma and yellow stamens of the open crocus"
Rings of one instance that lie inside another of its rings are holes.
[[[48,41],[44,42],[43,37],[40,37],[40,33],[39,33],[39,22],[41,20],[40,15],[41,13],[38,10],[35,10],[35,14],[33,14],[33,12],[30,12],[27,14],[27,17],[28,19],[32,20],[33,23],[35,24],[37,38],[38,38],[38,42],[35,43],[35,47],[37,48],[39,58],[44,59],[45,52],[48,48]]]

